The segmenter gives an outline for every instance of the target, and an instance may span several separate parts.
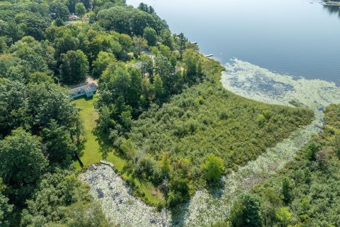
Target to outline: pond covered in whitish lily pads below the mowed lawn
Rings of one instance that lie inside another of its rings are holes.
[[[111,224],[117,226],[163,226],[170,217],[163,210],[148,206],[131,194],[128,184],[111,167],[98,165],[82,173],[80,179],[89,184],[89,193],[101,201]]]

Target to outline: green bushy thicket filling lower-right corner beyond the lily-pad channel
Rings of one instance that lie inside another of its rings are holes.
[[[257,204],[248,213],[258,220],[252,226],[340,226],[340,106],[331,105],[324,113],[327,126],[323,133],[248,195]],[[238,226],[251,205],[246,202],[247,206],[239,209],[240,203],[242,197],[232,211],[233,226]]]

